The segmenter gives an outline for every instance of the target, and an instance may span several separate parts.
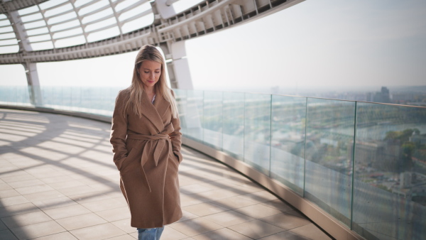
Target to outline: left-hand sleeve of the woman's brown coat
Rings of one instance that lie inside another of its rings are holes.
[[[116,97],[114,113],[112,114],[111,137],[109,139],[112,145],[112,152],[114,153],[113,160],[119,170],[121,163],[127,157],[126,136],[128,120],[127,114],[124,114],[125,99],[126,92],[119,92],[119,95]]]

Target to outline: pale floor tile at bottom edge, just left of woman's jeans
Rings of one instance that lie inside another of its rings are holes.
[[[99,240],[107,239],[114,236],[126,235],[124,231],[121,231],[118,227],[115,227],[114,224],[100,224],[92,227],[85,227],[83,229],[76,229],[70,231],[70,233],[77,237],[77,239],[86,239],[86,240]]]

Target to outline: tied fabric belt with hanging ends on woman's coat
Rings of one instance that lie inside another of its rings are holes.
[[[145,177],[149,192],[151,192],[151,187],[149,185],[145,170],[143,169],[143,165],[145,165],[145,163],[148,162],[148,159],[150,158],[150,156],[152,156],[152,159],[154,160],[155,167],[156,167],[158,165],[158,159],[160,158],[160,155],[163,152],[166,142],[168,142],[169,144],[168,151],[170,154],[170,151],[172,151],[172,146],[171,146],[170,137],[168,134],[173,133],[173,131],[175,131],[175,129],[173,129],[173,125],[170,123],[167,126],[165,126],[163,131],[155,135],[145,135],[145,134],[137,134],[137,133],[127,135],[127,139],[147,141],[142,151],[141,173]]]

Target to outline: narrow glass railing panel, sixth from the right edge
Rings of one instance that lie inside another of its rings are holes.
[[[222,151],[222,92],[204,91],[204,144]]]

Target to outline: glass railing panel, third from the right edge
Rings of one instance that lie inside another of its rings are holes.
[[[306,98],[272,96],[271,177],[303,195]]]

